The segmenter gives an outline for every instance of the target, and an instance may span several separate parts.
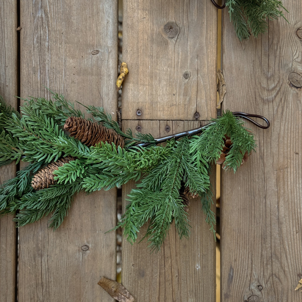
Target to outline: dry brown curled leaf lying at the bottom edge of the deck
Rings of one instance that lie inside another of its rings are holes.
[[[112,298],[119,302],[134,302],[134,298],[129,291],[117,281],[102,276],[101,280],[98,281],[98,285],[104,288]]]

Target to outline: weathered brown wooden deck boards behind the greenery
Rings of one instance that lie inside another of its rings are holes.
[[[262,114],[271,127],[249,124],[257,152],[236,174],[221,173],[221,301],[302,297],[294,291],[302,278],[302,8],[284,5],[289,23],[270,21],[267,34],[243,42],[223,11],[222,108]],[[115,115],[117,7],[117,0],[2,1],[0,94],[18,108],[15,96],[49,98],[48,87]],[[175,133],[215,117],[214,5],[124,0],[123,8],[124,129],[139,125],[159,137],[166,126]],[[2,167],[1,183],[15,173],[13,164]],[[123,187],[124,198],[130,189]],[[116,199],[116,190],[79,194],[55,232],[48,217],[18,230],[2,217],[0,300],[113,301],[97,282],[116,278],[116,237],[105,233],[116,224]],[[189,214],[191,238],[179,240],[172,225],[158,254],[145,241],[123,241],[122,283],[136,301],[215,301],[215,242],[198,201]]]

